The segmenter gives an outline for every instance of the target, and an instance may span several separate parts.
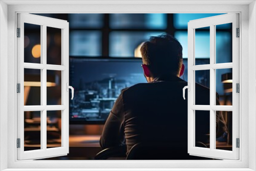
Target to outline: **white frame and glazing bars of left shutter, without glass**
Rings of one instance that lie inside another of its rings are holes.
[[[24,62],[24,23],[40,26],[40,63]],[[61,31],[61,65],[47,64],[47,27],[58,28]],[[20,139],[17,159],[66,156],[69,153],[69,23],[56,18],[18,13],[17,28],[20,29],[20,37],[17,38],[17,83],[20,83],[20,93],[17,94],[17,138]],[[40,70],[40,105],[24,105],[24,69]],[[61,105],[47,105],[48,70],[61,72]],[[40,111],[40,149],[24,151],[24,111]],[[47,148],[47,111],[61,111],[60,147]]]

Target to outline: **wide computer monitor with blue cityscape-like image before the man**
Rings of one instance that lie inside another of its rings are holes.
[[[183,63],[187,68],[187,59]],[[104,124],[122,89],[146,83],[141,64],[141,58],[70,57],[70,85],[74,88],[70,124]],[[209,76],[206,77],[207,83]],[[187,80],[186,69],[181,78]]]

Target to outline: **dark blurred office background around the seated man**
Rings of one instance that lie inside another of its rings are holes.
[[[185,65],[181,78],[187,81],[187,23],[220,14],[36,15],[69,22],[69,82],[75,89],[69,104],[69,154],[44,160],[94,160],[102,150],[99,138],[104,122],[121,90],[146,82],[139,51],[142,43],[150,36],[164,33],[177,38],[183,47]],[[25,24],[24,34],[24,62],[40,63],[40,26]],[[231,34],[231,24],[216,28],[217,63],[232,62]],[[197,29],[196,36],[196,65],[209,64],[209,28]],[[47,48],[47,63],[60,65],[60,29],[47,28]],[[196,82],[209,88],[209,74],[209,70],[197,71]],[[232,105],[232,69],[219,69],[216,74],[220,105]],[[24,105],[40,105],[40,70],[25,69],[24,79]],[[29,84],[31,80],[39,83]],[[48,70],[47,105],[58,104],[61,104],[61,71]],[[232,150],[232,112],[221,112],[228,131],[217,138],[217,148]],[[40,112],[24,115],[25,151],[40,149]],[[47,148],[56,146],[61,146],[61,111],[48,111]]]

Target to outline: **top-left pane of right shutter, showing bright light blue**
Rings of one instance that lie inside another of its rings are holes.
[[[195,57],[209,58],[210,57],[210,27],[196,29],[195,31]],[[195,61],[195,65],[199,65]],[[209,63],[208,63],[209,64]]]

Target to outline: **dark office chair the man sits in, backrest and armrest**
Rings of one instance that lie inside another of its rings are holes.
[[[207,146],[202,142],[196,142],[197,147]],[[207,158],[190,156],[187,148],[180,144],[137,143],[126,156],[126,146],[117,146],[103,149],[95,156],[95,160],[126,159],[126,160],[207,160]]]

